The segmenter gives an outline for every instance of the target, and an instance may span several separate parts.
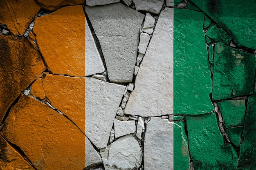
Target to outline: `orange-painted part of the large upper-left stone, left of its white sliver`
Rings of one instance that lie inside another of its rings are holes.
[[[85,14],[81,5],[37,17],[33,32],[52,73],[85,76]]]

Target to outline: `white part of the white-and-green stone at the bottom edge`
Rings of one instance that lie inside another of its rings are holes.
[[[144,170],[173,170],[173,124],[151,117],[145,132]]]

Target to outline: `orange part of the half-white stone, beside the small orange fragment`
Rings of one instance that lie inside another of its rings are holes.
[[[47,74],[43,88],[50,104],[85,132],[85,78]]]

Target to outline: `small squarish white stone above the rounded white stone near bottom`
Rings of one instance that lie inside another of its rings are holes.
[[[115,138],[128,135],[130,133],[134,133],[136,129],[134,120],[121,121],[121,120],[115,119],[114,126],[115,126]]]

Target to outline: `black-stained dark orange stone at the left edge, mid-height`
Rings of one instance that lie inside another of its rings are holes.
[[[45,69],[26,39],[0,35],[0,121],[12,102]]]

